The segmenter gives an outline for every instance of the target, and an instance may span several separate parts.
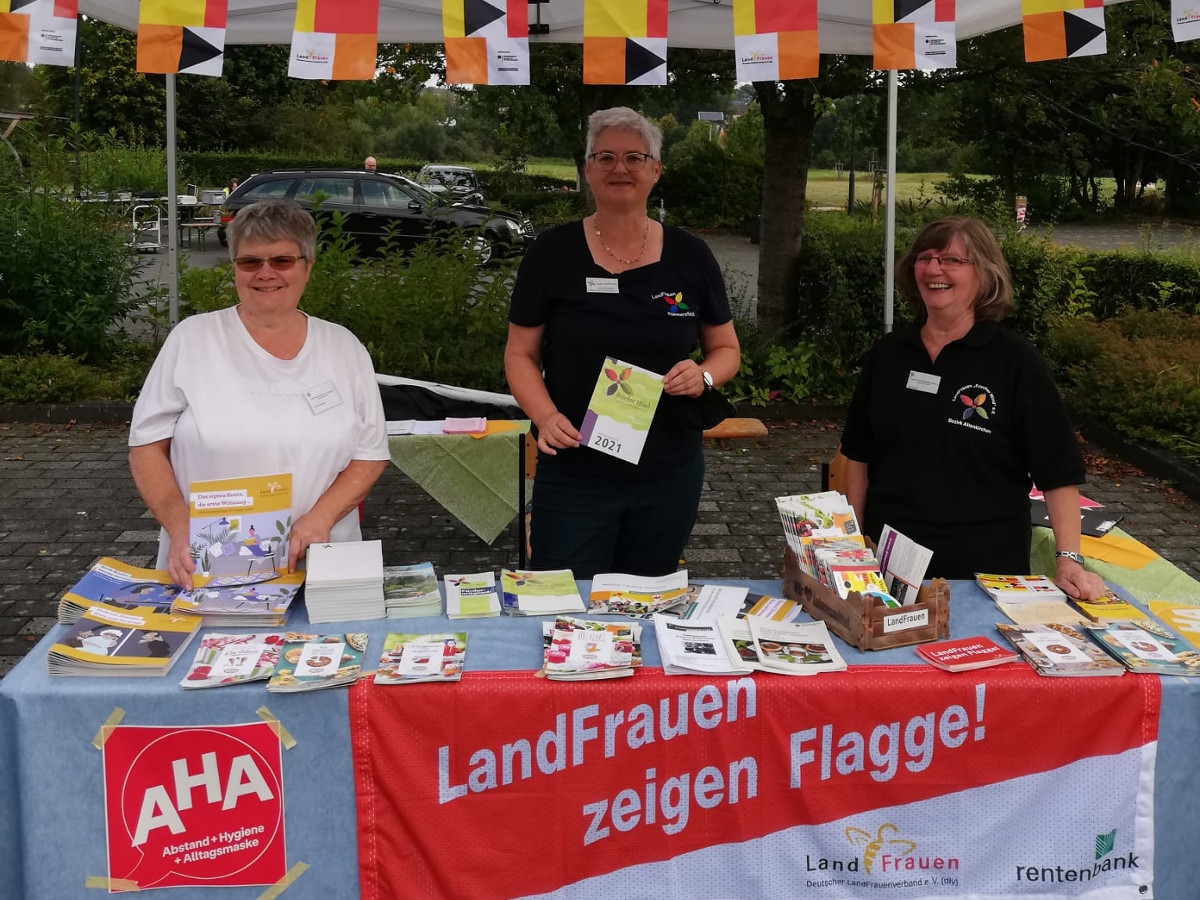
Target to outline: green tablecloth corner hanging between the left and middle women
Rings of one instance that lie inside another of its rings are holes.
[[[389,438],[391,461],[455,518],[491,544],[518,510],[521,442],[517,428],[469,434],[402,434]],[[528,496],[528,494],[527,494]]]

